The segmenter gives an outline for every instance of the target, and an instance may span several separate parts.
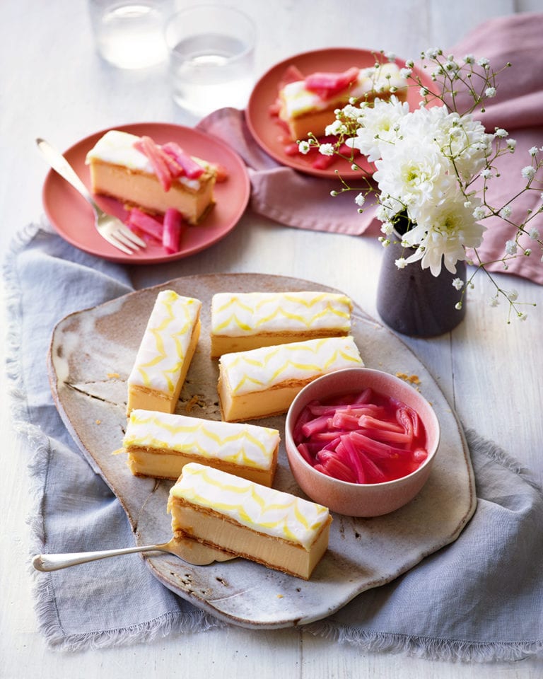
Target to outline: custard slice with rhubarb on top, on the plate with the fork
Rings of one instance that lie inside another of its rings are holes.
[[[112,129],[87,153],[86,163],[93,193],[128,205],[157,214],[172,207],[197,224],[214,204],[216,168],[173,142],[160,146]]]

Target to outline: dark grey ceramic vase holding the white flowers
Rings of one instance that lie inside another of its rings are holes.
[[[398,238],[400,238],[398,236]],[[398,269],[395,260],[408,257],[409,251],[399,243],[385,248],[381,265],[377,311],[392,330],[411,337],[437,337],[449,332],[465,318],[466,300],[456,309],[462,291],[452,286],[455,278],[466,279],[466,263],[457,262],[451,274],[442,267],[436,277],[419,262]]]

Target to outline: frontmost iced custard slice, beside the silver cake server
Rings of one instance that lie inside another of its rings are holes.
[[[170,489],[175,537],[189,537],[308,580],[328,547],[320,504],[211,467],[185,465]]]

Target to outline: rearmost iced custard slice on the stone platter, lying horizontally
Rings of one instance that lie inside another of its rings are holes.
[[[211,300],[211,357],[351,330],[349,297],[318,291],[219,293]]]

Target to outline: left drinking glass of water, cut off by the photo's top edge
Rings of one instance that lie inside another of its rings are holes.
[[[88,0],[96,49],[120,69],[144,69],[165,62],[165,23],[172,0]]]

